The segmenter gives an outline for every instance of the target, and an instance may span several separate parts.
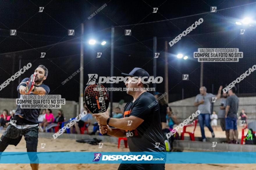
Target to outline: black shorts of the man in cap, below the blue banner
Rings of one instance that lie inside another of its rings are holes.
[[[118,170],[164,170],[165,164],[120,164]]]

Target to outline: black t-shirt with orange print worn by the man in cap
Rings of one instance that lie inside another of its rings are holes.
[[[126,137],[131,152],[164,152],[159,105],[154,96],[148,92],[141,94],[134,103],[125,105],[124,117],[135,116],[143,119],[136,129],[126,130]],[[132,122],[127,123],[131,125]]]

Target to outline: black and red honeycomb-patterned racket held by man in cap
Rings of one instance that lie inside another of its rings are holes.
[[[109,107],[109,94],[102,84],[94,83],[85,88],[84,102],[90,112],[103,113],[106,112]]]

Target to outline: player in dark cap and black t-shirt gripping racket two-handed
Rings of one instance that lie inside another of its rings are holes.
[[[93,114],[100,124],[100,133],[127,137],[131,152],[165,152],[159,105],[154,96],[146,92],[149,74],[141,68],[134,68],[129,74],[122,75],[129,76],[125,85],[133,100],[125,105],[124,118],[110,118],[108,111]],[[127,168],[162,170],[165,164],[120,164],[118,169]]]

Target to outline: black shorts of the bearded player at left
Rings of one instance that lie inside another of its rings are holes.
[[[1,136],[0,145],[15,145],[17,146],[22,136],[25,137],[26,147],[28,151],[36,152],[38,144],[38,126],[29,129],[18,129],[9,124],[6,131]]]

